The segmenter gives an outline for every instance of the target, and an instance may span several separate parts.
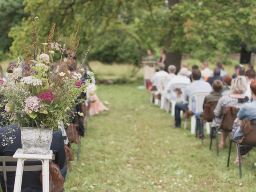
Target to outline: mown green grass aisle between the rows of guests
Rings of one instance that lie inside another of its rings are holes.
[[[240,180],[234,145],[227,168],[228,148],[217,158],[215,140],[210,151],[208,136],[202,144],[189,129],[170,128],[173,118],[149,104],[147,90],[138,85],[98,86],[111,111],[90,117],[81,160],[72,162],[66,178],[67,191],[256,191],[255,149],[244,158]],[[72,149],[76,156],[77,146]]]

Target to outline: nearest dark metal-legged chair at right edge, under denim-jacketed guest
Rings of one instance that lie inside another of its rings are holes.
[[[238,140],[231,139],[230,140],[230,145],[229,145],[229,151],[228,151],[228,164],[227,167],[229,166],[229,160],[230,160],[230,153],[231,153],[231,148],[232,148],[232,142],[236,143],[236,146],[238,148],[238,163],[239,163],[239,176],[242,178],[242,164],[241,164],[241,156],[240,156],[240,147],[256,147],[256,124],[254,124],[254,121],[256,119],[250,119],[250,126],[252,127],[252,130],[244,135],[244,139],[242,142],[238,142]],[[249,156],[249,152],[248,152]]]

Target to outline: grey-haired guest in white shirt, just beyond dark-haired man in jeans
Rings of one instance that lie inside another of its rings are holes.
[[[188,69],[182,68],[180,69],[180,75],[175,76],[174,78],[172,78],[172,80],[168,82],[165,88],[165,94],[166,94],[166,98],[169,101],[178,99],[179,102],[182,102],[185,100],[184,94],[180,95],[180,97],[177,98],[177,94],[175,91],[172,92],[172,95],[170,92],[171,92],[171,87],[174,84],[177,84],[177,83],[190,84],[190,79],[187,77],[187,74],[188,74]]]

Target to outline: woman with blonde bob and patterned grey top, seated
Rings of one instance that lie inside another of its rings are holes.
[[[242,78],[234,78],[231,82],[230,88],[232,94],[224,95],[218,101],[216,108],[214,109],[214,120],[212,121],[212,127],[219,127],[222,122],[222,110],[226,107],[241,108],[246,102],[249,102],[248,97],[243,94],[246,91],[246,83]],[[228,133],[221,132],[220,147],[226,146],[226,138]]]

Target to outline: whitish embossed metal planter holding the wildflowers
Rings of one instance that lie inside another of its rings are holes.
[[[22,150],[26,154],[47,154],[52,144],[52,129],[20,127]]]

